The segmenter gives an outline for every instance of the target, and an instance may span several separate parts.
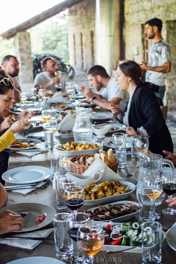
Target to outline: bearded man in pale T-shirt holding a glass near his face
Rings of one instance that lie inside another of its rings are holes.
[[[56,92],[55,84],[62,84],[62,92],[65,91],[65,82],[70,82],[70,78],[64,72],[60,78],[55,76],[55,72],[58,71],[56,61],[52,57],[45,57],[41,61],[41,67],[43,72],[38,73],[34,79],[34,88],[37,90],[41,88],[49,89]]]

